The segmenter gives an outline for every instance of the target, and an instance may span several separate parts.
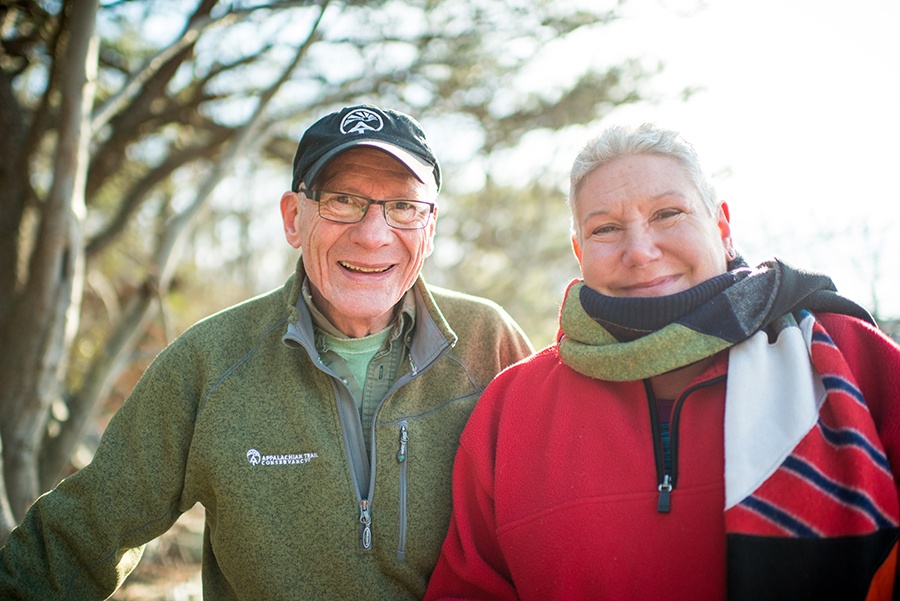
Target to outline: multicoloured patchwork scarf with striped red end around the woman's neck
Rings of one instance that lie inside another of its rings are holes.
[[[890,599],[897,488],[853,374],[811,311],[871,317],[826,276],[777,260],[730,267],[657,298],[574,282],[560,356],[590,377],[630,381],[729,349],[729,599]]]

